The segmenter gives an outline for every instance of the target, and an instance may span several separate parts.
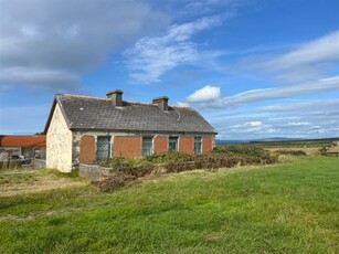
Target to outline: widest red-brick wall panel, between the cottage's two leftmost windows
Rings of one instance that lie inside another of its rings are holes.
[[[116,136],[113,142],[113,157],[138,158],[141,156],[141,137]]]

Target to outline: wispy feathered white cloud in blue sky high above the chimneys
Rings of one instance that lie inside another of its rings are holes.
[[[190,40],[198,32],[219,25],[219,17],[208,17],[183,24],[173,24],[162,36],[142,38],[124,55],[130,77],[139,83],[159,82],[161,75],[177,65],[198,59]]]

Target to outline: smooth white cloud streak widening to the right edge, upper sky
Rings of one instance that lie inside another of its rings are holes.
[[[294,45],[278,55],[248,56],[235,68],[252,71],[253,75],[271,76],[283,83],[307,82],[338,74],[339,31]]]

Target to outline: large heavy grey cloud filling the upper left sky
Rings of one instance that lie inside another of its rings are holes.
[[[80,74],[168,24],[141,1],[0,0],[0,78],[42,88],[80,86]]]

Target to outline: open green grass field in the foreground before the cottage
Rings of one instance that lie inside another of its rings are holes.
[[[0,253],[339,253],[339,159],[0,198]]]

